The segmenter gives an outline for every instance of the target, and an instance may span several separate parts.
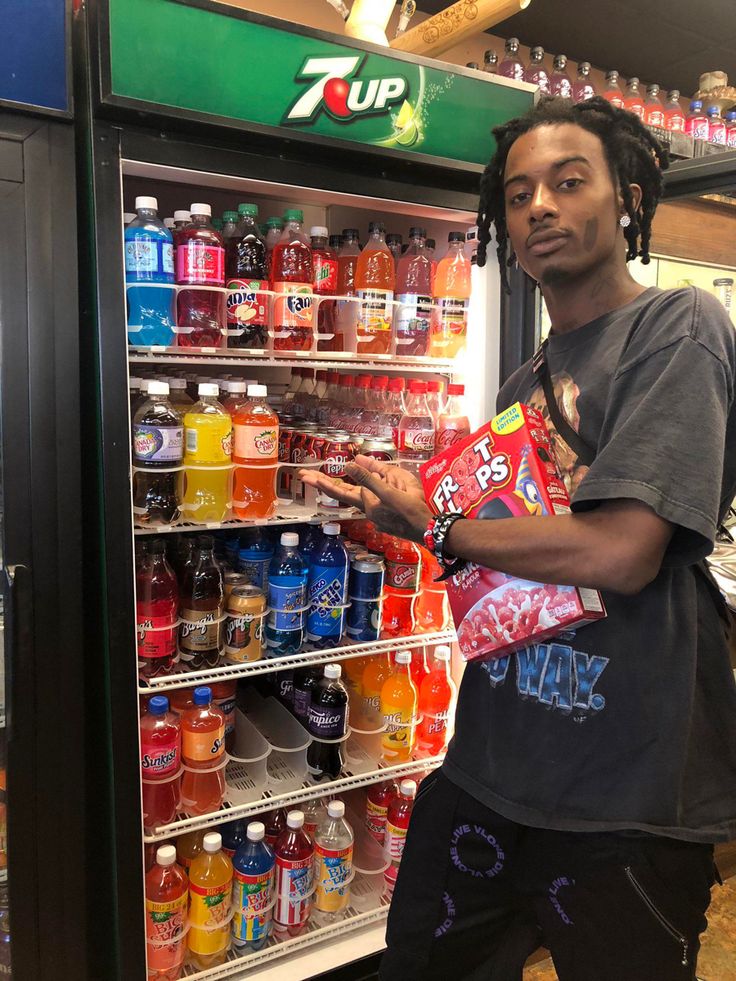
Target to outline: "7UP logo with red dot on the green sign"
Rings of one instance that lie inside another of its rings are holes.
[[[314,81],[292,105],[283,122],[312,122],[322,110],[334,119],[348,122],[358,116],[388,112],[391,106],[403,101],[409,83],[400,75],[355,78],[365,57],[307,58],[297,79]]]

